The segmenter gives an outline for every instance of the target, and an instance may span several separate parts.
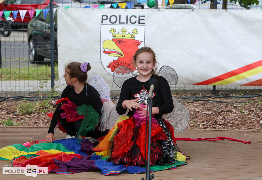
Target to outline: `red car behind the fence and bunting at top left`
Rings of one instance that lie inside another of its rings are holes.
[[[11,24],[15,27],[27,27],[31,17],[35,17],[36,9],[43,9],[50,0],[5,0],[0,3],[0,11],[10,11],[10,17],[14,18]],[[55,2],[54,2],[55,4]],[[2,18],[4,13],[2,14]]]

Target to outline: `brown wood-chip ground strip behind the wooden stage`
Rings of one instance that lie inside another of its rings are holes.
[[[117,95],[114,95],[117,97]],[[190,112],[188,129],[262,130],[262,94],[173,94]],[[0,126],[48,127],[52,100],[14,100],[0,97]]]

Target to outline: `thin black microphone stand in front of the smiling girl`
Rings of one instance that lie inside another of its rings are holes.
[[[147,157],[148,160],[147,160],[147,167],[146,167],[146,180],[152,180],[155,177],[153,173],[150,175],[151,126],[152,126],[152,105],[153,105],[152,97],[148,98],[147,101],[149,106],[149,120],[148,120],[148,157]],[[144,178],[141,178],[141,180],[144,180]]]

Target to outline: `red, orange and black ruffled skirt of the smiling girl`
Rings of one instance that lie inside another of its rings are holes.
[[[173,127],[163,118],[156,119],[157,123],[151,129],[150,165],[162,165],[176,163],[176,140]],[[147,147],[145,142],[146,123],[137,119],[121,116],[94,151],[107,150],[108,160],[124,166],[140,166],[147,159]],[[147,130],[148,134],[148,130]],[[146,152],[146,154],[145,154]]]

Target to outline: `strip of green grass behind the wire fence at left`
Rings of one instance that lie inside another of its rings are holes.
[[[51,80],[50,65],[33,64],[24,68],[0,68],[0,80]],[[58,65],[54,66],[54,75],[58,78]]]

